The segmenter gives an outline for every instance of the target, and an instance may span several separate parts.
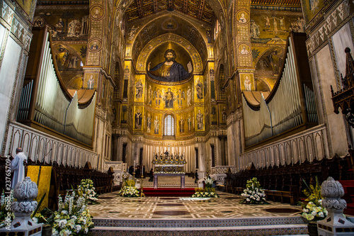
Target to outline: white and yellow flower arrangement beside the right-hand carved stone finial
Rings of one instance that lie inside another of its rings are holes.
[[[304,202],[299,204],[302,206],[302,217],[309,221],[323,220],[326,218],[328,211],[322,206],[322,195],[321,195],[321,185],[319,184],[319,179],[316,176],[316,185],[310,184],[308,186],[306,181],[304,184],[307,189],[302,191],[307,197]]]

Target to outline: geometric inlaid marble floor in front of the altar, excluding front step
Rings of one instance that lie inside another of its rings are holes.
[[[207,219],[299,216],[301,208],[273,203],[240,204],[241,196],[218,192],[220,198],[144,197],[123,198],[118,192],[99,196],[98,205],[89,206],[93,218]]]

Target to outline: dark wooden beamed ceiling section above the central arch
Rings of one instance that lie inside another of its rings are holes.
[[[215,21],[215,13],[205,0],[135,0],[125,14],[130,23],[159,11],[181,11],[209,24]]]

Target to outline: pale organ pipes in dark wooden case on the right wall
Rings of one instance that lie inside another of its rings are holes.
[[[304,40],[306,35],[290,34],[282,70],[268,98],[261,94],[255,106],[242,96],[246,147],[318,123]]]

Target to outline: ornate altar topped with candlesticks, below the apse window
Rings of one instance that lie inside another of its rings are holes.
[[[181,189],[185,189],[184,154],[171,154],[166,151],[154,154],[154,189],[158,187],[159,176],[181,176]]]

